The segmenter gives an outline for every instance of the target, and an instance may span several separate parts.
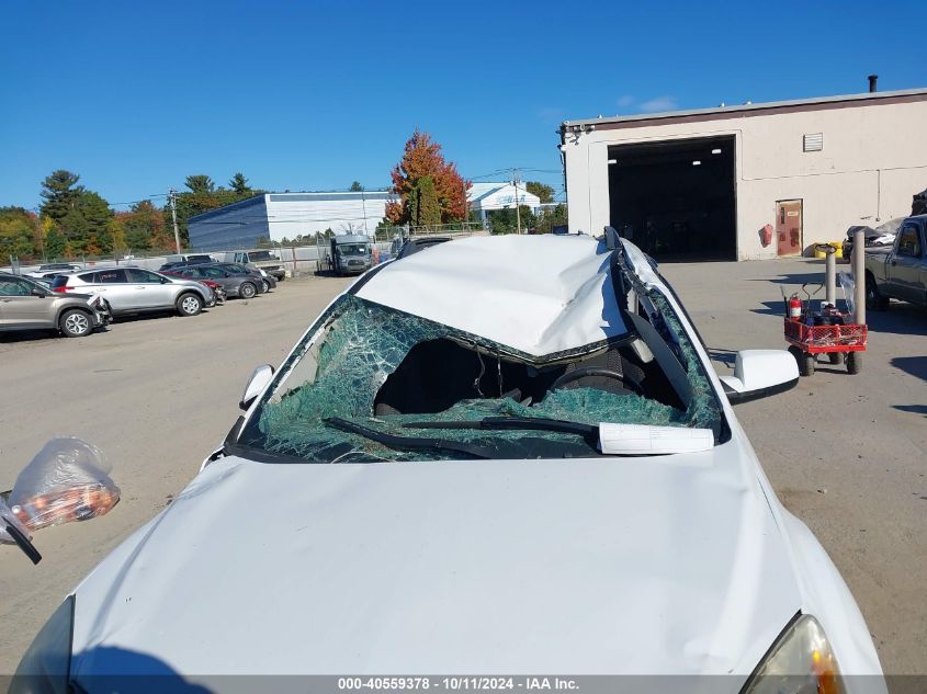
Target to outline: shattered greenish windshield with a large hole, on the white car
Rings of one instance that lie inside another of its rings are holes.
[[[668,304],[654,299],[670,314],[648,335],[667,341],[662,352],[632,333],[545,360],[344,295],[283,365],[237,445],[307,463],[599,455],[573,432],[470,426],[513,417],[709,428],[717,437],[704,371]],[[385,445],[371,431],[419,444]]]

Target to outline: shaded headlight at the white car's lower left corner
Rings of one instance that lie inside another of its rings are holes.
[[[48,617],[20,661],[9,694],[67,694],[74,605],[74,595],[68,595]]]

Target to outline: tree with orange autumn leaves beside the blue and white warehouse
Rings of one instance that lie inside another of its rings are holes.
[[[441,145],[428,133],[416,128],[406,143],[403,158],[393,168],[391,191],[399,200],[386,204],[386,218],[392,224],[414,225],[423,219],[432,223],[439,218],[438,215],[422,214],[422,198],[431,198],[433,186],[441,224],[460,221],[466,216],[466,190],[470,185],[470,181],[457,173],[453,162],[444,161]]]

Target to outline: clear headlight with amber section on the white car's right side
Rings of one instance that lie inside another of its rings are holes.
[[[772,646],[744,694],[843,694],[837,657],[817,619],[802,615]]]

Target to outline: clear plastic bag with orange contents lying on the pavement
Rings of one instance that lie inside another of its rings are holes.
[[[80,439],[52,439],[23,468],[8,504],[29,532],[109,513],[120,489],[100,452]]]

